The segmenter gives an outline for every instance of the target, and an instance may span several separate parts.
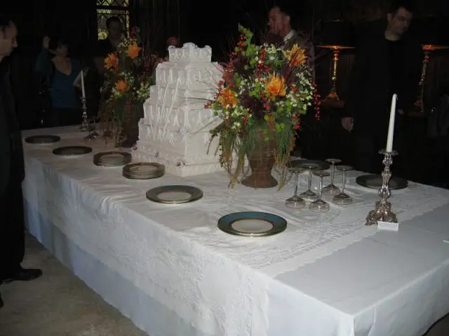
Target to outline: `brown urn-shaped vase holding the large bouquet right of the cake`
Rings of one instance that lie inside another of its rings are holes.
[[[269,140],[265,140],[263,130],[257,130],[255,135],[255,146],[246,153],[251,175],[243,179],[241,184],[256,189],[273,188],[278,185],[278,181],[272,176],[276,162],[276,134],[270,134]]]

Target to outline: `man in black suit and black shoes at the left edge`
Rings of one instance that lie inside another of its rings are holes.
[[[22,196],[25,165],[8,64],[8,56],[17,47],[16,36],[14,22],[0,16],[0,280],[3,284],[30,281],[42,275],[41,269],[24,269],[20,265],[25,254]]]

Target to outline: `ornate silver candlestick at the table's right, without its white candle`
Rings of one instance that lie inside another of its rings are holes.
[[[391,196],[391,191],[389,187],[389,182],[391,179],[390,166],[393,165],[394,155],[398,155],[398,152],[391,151],[387,152],[384,149],[379,151],[380,154],[384,155],[384,171],[382,172],[382,186],[379,189],[379,197],[375,204],[375,209],[371,210],[368,216],[366,216],[366,225],[375,225],[377,222],[390,222],[398,223],[398,218],[396,214],[391,211],[391,203],[387,202],[388,198]]]

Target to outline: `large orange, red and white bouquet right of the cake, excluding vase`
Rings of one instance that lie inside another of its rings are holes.
[[[206,104],[222,118],[210,132],[212,138],[220,137],[217,151],[231,176],[231,187],[243,172],[248,151],[257,148],[260,132],[262,141],[275,144],[276,167],[281,168],[278,171],[285,183],[286,163],[295,146],[300,117],[316,98],[307,50],[298,45],[285,50],[282,39],[272,34],[256,45],[250,30],[239,26],[239,32],[215,99]]]

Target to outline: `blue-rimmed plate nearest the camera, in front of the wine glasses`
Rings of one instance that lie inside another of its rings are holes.
[[[268,237],[287,228],[287,221],[267,212],[243,211],[222,216],[218,228],[230,235],[242,237]]]

